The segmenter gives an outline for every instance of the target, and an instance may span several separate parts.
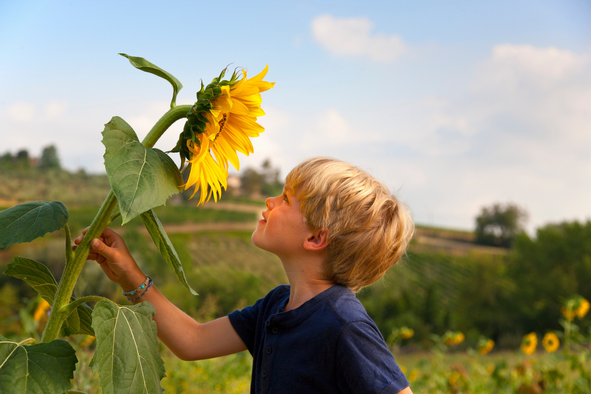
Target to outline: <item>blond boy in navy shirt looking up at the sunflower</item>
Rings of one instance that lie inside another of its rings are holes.
[[[290,285],[204,324],[152,286],[134,303],[154,305],[160,340],[182,360],[248,349],[251,393],[411,393],[354,294],[402,257],[414,231],[407,209],[366,172],[313,158],[291,170],[262,217],[252,242],[281,259]],[[89,259],[124,291],[145,281],[111,229],[91,244]]]

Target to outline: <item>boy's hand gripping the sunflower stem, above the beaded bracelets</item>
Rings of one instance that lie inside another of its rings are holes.
[[[80,245],[88,229],[89,227],[86,227],[82,230],[82,235],[74,239],[76,245],[72,246],[72,249],[75,250],[77,245]],[[90,246],[92,249],[86,259],[99,263],[108,278],[118,283],[125,291],[135,289],[145,281],[146,276],[129,253],[125,241],[109,227],[99,238],[93,239]]]

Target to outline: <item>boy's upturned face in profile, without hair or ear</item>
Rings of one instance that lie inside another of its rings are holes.
[[[256,224],[252,243],[282,258],[304,252],[304,242],[312,234],[300,211],[300,200],[287,185],[281,196],[267,198],[267,210]]]

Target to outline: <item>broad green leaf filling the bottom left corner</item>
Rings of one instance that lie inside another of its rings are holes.
[[[64,394],[74,378],[76,352],[56,339],[26,345],[0,336],[0,392],[2,394]]]

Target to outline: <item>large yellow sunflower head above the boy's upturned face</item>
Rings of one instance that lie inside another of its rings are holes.
[[[265,115],[261,109],[261,92],[275,84],[262,80],[267,70],[268,66],[250,79],[242,70],[241,79],[233,73],[229,81],[221,80],[225,73],[222,71],[206,89],[202,86],[197,93],[197,103],[187,116],[185,129],[175,148],[178,150],[173,152],[180,151],[181,161],[190,157],[187,162],[191,171],[184,188],[187,190],[195,185],[191,198],[201,190],[199,204],[209,200],[212,194],[215,201],[221,196],[222,187],[228,186],[229,164],[240,169],[236,152],[247,156],[254,152],[250,138],[265,130],[256,123],[258,116]]]

